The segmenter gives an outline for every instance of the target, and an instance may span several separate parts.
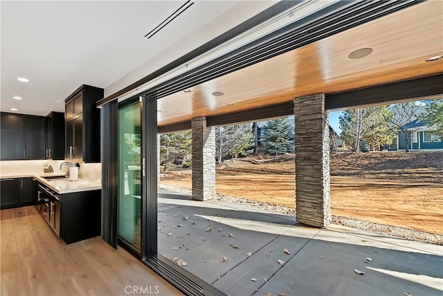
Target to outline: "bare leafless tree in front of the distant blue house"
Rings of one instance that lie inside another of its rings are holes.
[[[390,129],[398,133],[399,141],[400,137],[402,138],[406,152],[408,152],[408,142],[418,130],[413,121],[420,119],[421,108],[415,102],[408,102],[390,105],[389,109],[394,114],[392,118],[387,119]]]

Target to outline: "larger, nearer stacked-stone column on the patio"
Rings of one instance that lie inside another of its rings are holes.
[[[329,116],[325,94],[293,100],[296,117],[296,218],[325,227],[330,214]]]

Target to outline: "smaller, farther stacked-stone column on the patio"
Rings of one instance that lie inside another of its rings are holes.
[[[215,197],[215,130],[206,117],[192,119],[192,199]]]

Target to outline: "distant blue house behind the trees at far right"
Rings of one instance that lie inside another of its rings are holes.
[[[410,150],[443,150],[443,139],[433,133],[433,129],[426,121],[415,119],[403,125],[404,130],[413,130],[412,139],[408,140]],[[397,134],[397,150],[405,150],[406,143],[403,140],[404,134]]]

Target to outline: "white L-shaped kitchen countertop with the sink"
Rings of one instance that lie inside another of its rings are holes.
[[[100,179],[79,179],[78,181],[69,181],[68,179],[52,179],[46,180],[43,177],[60,176],[57,173],[42,173],[40,175],[2,175],[1,179],[10,179],[17,177],[34,177],[40,183],[48,186],[53,191],[63,193],[73,193],[81,191],[91,191],[102,189],[102,180]]]

